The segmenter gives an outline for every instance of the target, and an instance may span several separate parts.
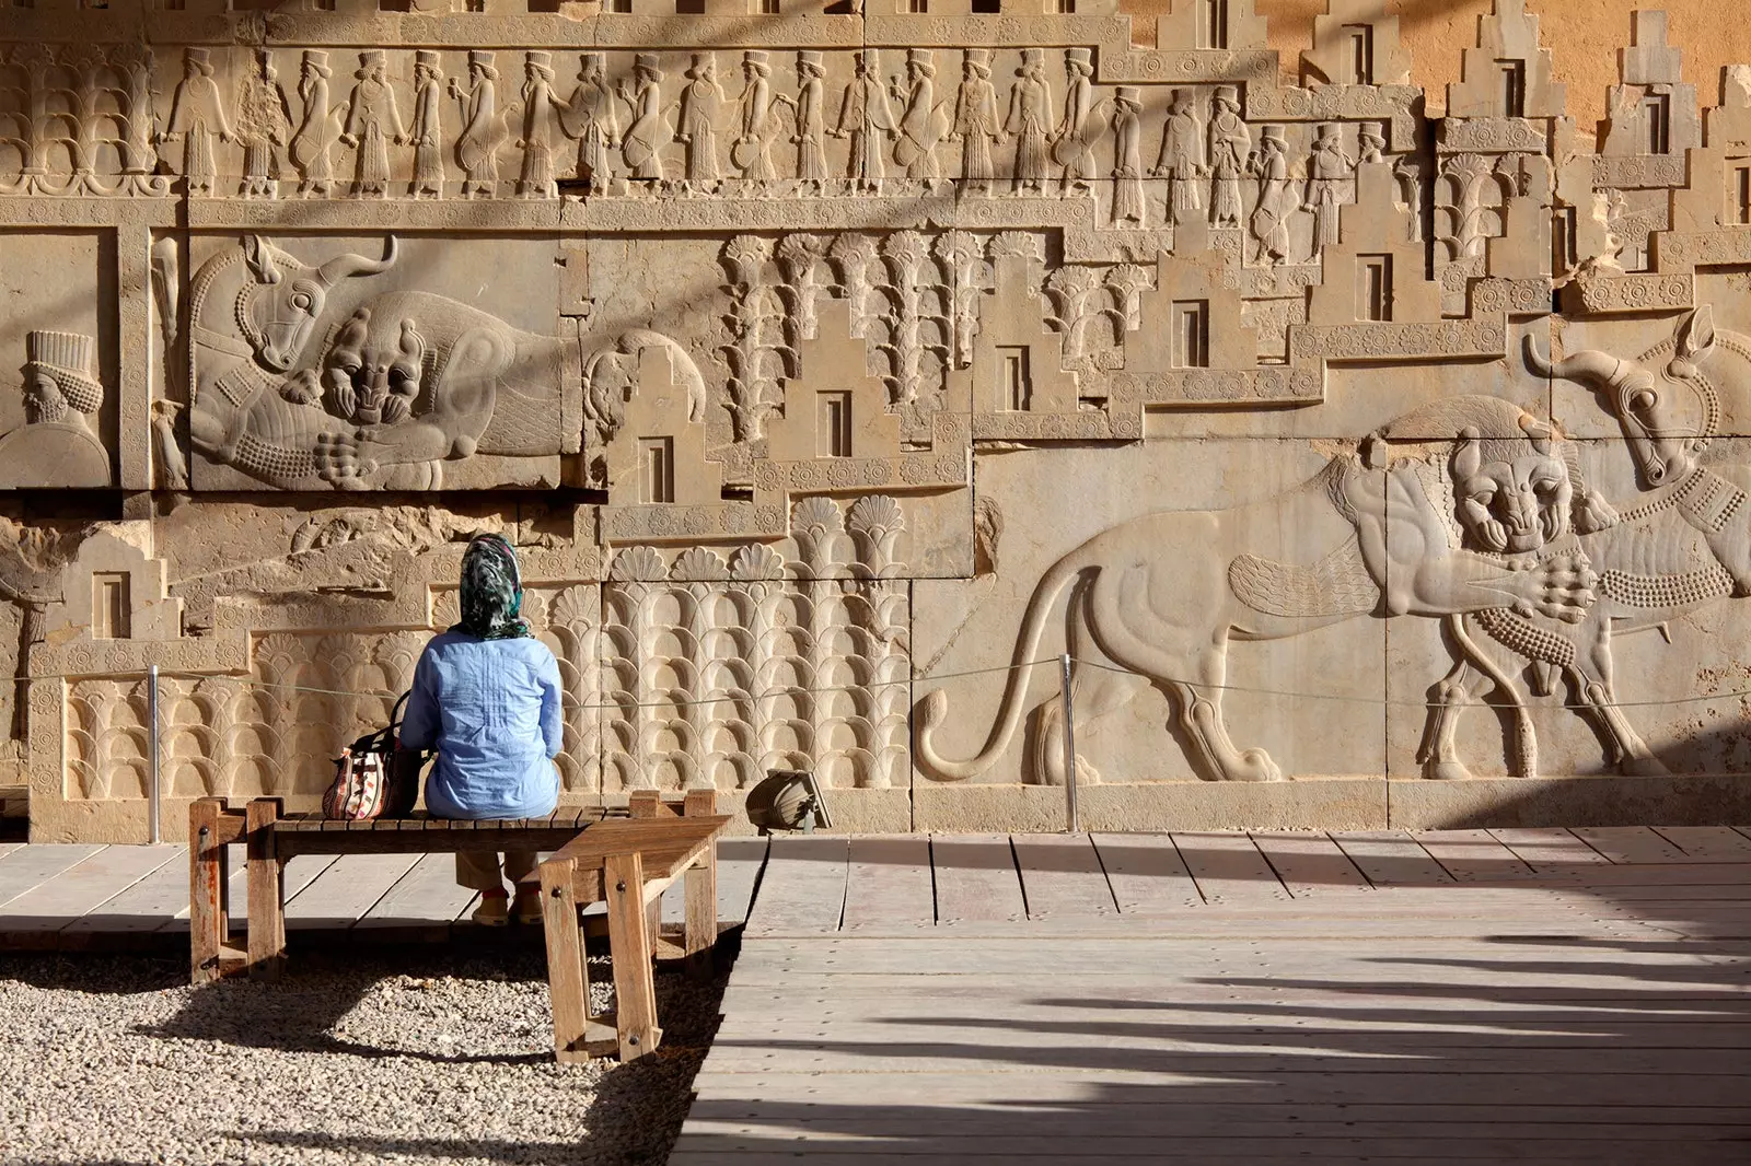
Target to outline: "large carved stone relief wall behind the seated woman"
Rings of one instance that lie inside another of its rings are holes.
[[[1385,0],[620,2],[9,9],[39,837],[154,664],[166,821],[313,804],[485,529],[567,798],[1056,826],[1068,651],[1091,825],[1746,805],[1751,67],[1637,14],[1595,144],[1520,0],[1438,119]]]

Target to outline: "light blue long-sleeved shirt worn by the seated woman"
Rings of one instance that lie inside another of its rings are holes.
[[[425,809],[438,818],[543,818],[559,804],[559,662],[539,639],[434,636],[413,667],[401,744],[438,749]]]

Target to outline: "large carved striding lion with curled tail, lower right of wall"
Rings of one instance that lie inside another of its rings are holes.
[[[1014,660],[1035,660],[1049,627],[1068,623],[1077,657],[1068,678],[1077,730],[1126,707],[1150,686],[1168,693],[1196,770],[1222,781],[1278,781],[1257,748],[1240,749],[1222,716],[1233,641],[1301,636],[1361,616],[1445,618],[1518,609],[1579,623],[1599,576],[1585,553],[1565,550],[1576,492],[1550,443],[1529,436],[1548,422],[1499,397],[1446,397],[1371,434],[1359,452],[1333,457],[1306,483],[1276,497],[1212,511],[1156,511],[1121,522],[1045,571],[1023,615]],[[1394,438],[1448,434],[1448,450],[1404,450]],[[1473,462],[1501,460],[1515,483],[1480,515],[1455,499]],[[1502,551],[1478,541],[1501,520]],[[1054,615],[1063,608],[1063,615]],[[1030,671],[1010,672],[996,725],[968,760],[942,756],[935,735],[947,692],[918,709],[914,756],[939,781],[988,770],[1026,714]],[[1035,707],[1024,779],[1061,784],[1065,707],[1059,693]],[[1096,781],[1084,760],[1077,781]]]

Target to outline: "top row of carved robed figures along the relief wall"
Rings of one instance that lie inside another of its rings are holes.
[[[1110,186],[1112,226],[1245,226],[1257,261],[1303,263],[1336,242],[1355,165],[1387,159],[1385,121],[1248,124],[1236,84],[1096,86],[1093,54],[744,49],[720,72],[714,51],[679,65],[362,49],[354,68],[336,49],[187,47],[172,84],[140,46],[19,46],[0,56],[0,194],[163,196],[175,177],[189,196],[245,200],[552,200],[562,182],[664,198]],[[215,79],[215,56],[235,84]],[[1397,158],[1415,203],[1413,159],[1403,145]],[[1304,254],[1290,243],[1297,212],[1315,224]]]

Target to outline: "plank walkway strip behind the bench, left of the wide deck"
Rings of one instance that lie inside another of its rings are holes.
[[[725,839],[718,919],[748,917],[765,839]],[[231,847],[231,923],[249,916],[243,847]],[[441,942],[469,935],[475,893],[455,884],[452,854],[299,854],[285,865],[291,945],[343,938]],[[601,903],[592,909],[602,912]],[[585,914],[590,914],[588,910]],[[683,919],[681,886],[664,921]],[[539,942],[539,930],[529,928]],[[189,853],[182,846],[25,846],[0,842],[0,951],[187,952]]]

